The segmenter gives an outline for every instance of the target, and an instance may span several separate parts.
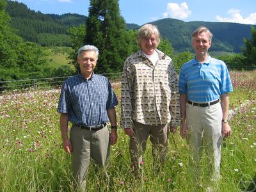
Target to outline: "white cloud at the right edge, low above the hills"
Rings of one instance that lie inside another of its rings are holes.
[[[243,18],[240,14],[240,10],[230,9],[228,10],[228,15],[230,17],[221,17],[216,15],[216,19],[220,22],[237,22],[241,24],[256,24],[256,13],[251,13],[248,17]]]

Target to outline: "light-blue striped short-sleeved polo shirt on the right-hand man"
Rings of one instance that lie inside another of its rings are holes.
[[[211,102],[223,93],[232,92],[227,66],[208,55],[202,65],[194,58],[182,65],[179,74],[179,92],[193,102]]]

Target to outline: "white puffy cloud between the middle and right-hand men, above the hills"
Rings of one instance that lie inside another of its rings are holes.
[[[163,13],[163,17],[172,17],[173,19],[186,19],[191,15],[191,10],[188,8],[188,4],[186,2],[183,3],[168,3],[167,12]]]

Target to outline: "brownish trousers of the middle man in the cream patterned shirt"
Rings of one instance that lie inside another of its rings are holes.
[[[131,164],[134,173],[143,164],[143,154],[146,150],[148,136],[152,143],[152,154],[154,163],[159,166],[163,164],[166,157],[166,147],[168,145],[168,124],[166,125],[145,125],[134,122],[134,136],[130,138]]]

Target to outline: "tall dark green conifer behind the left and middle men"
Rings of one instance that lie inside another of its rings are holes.
[[[98,73],[121,72],[132,53],[129,34],[120,15],[118,0],[91,0],[84,44],[99,49]]]

